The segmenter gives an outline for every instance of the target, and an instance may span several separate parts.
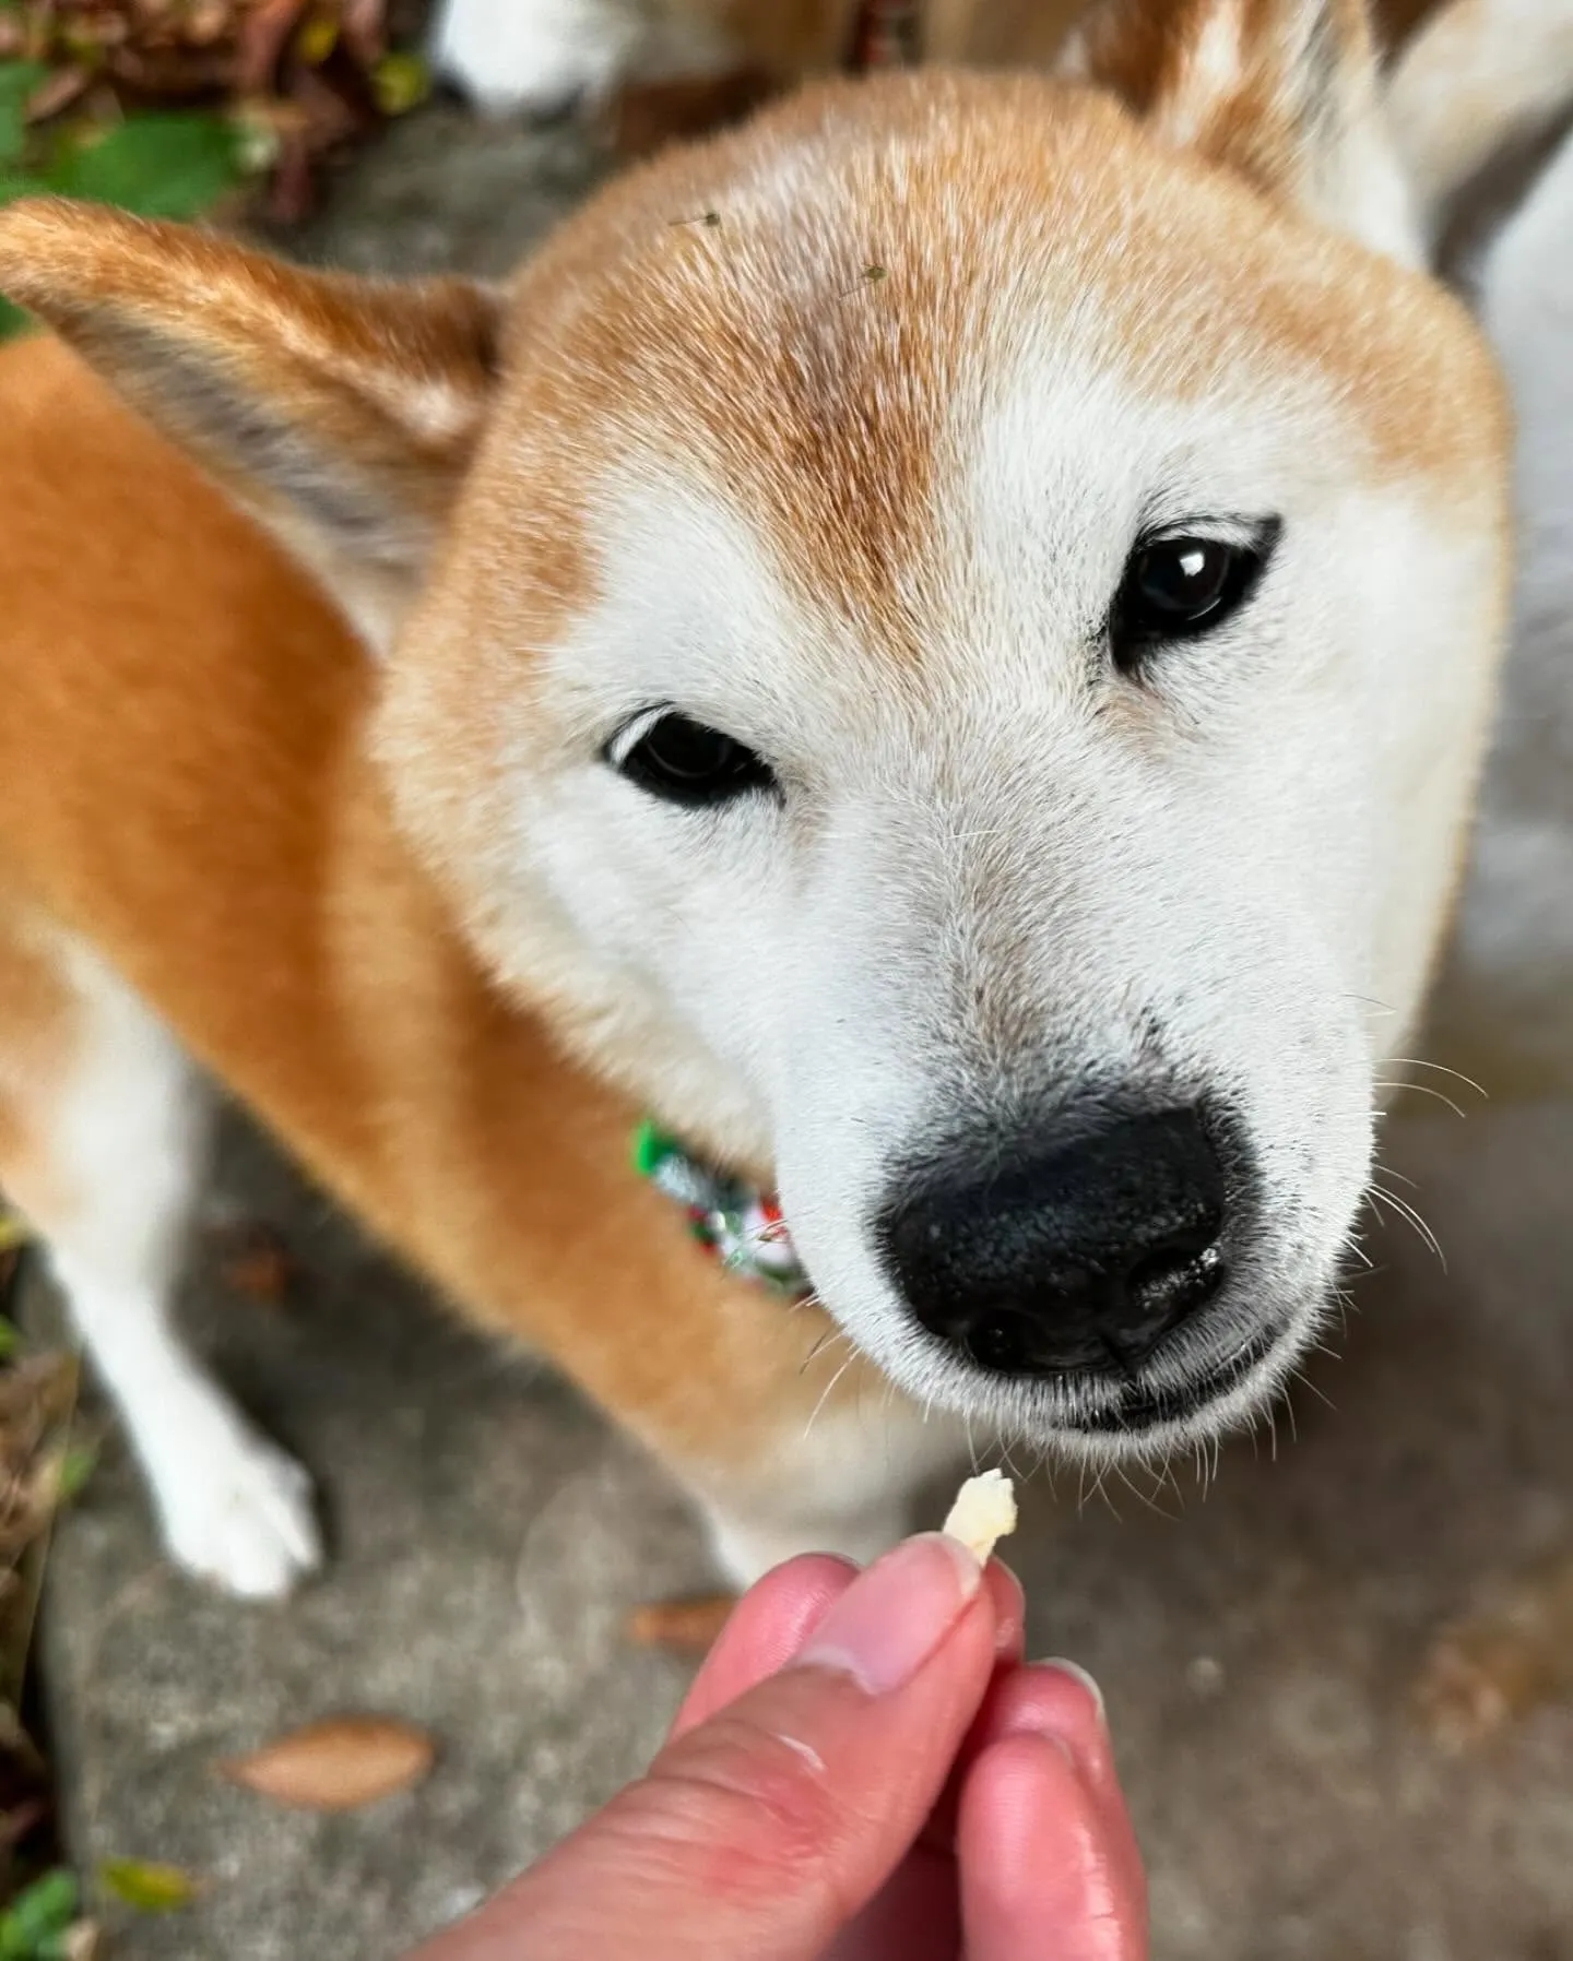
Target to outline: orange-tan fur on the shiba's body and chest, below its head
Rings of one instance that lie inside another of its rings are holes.
[[[694,1259],[628,1171],[628,1106],[488,990],[367,765],[363,649],[57,343],[6,349],[0,396],[6,1057],[71,1057],[69,977],[20,939],[47,910],[390,1243],[677,1465],[806,1422],[839,1365],[802,1367],[822,1318]],[[0,1086],[25,1202],[49,1184]]]

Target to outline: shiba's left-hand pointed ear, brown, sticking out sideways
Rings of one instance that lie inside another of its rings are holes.
[[[0,292],[251,508],[369,639],[386,637],[488,412],[492,292],[308,273],[59,200],[0,212]]]

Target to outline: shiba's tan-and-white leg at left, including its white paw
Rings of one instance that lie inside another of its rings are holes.
[[[226,1592],[277,1598],[320,1565],[306,1473],[188,1351],[171,1290],[202,1169],[202,1084],[94,955],[0,920],[0,1182],[53,1271],[147,1475],[163,1537]]]

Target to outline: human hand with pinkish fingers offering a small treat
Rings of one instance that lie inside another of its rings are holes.
[[[1143,1961],[1096,1692],[938,1534],[737,1606],[637,1783],[410,1961]]]

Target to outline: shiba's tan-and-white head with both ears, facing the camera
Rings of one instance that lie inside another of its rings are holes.
[[[920,1398],[1085,1449],[1318,1326],[1459,855],[1502,414],[1359,10],[830,86],[504,298],[16,214],[0,284],[371,631],[488,967],[781,1181]]]

